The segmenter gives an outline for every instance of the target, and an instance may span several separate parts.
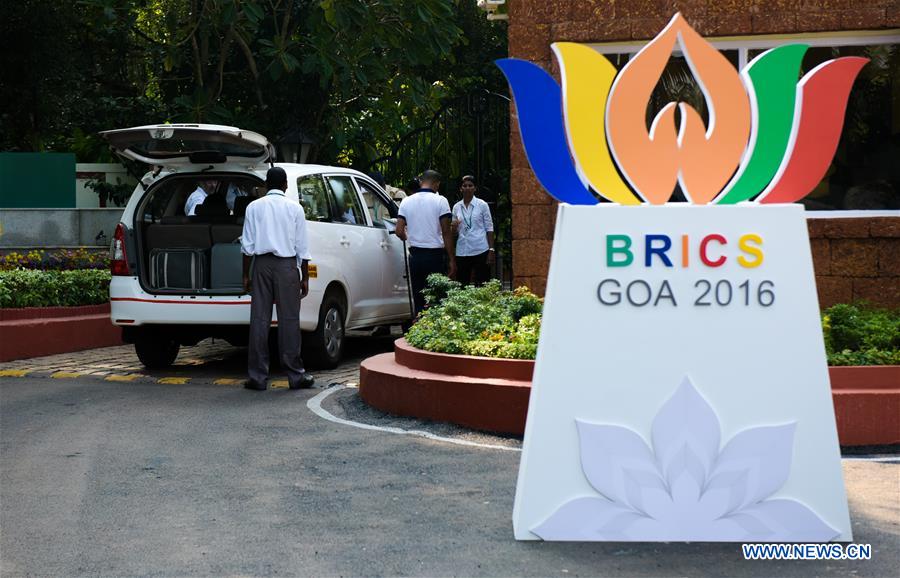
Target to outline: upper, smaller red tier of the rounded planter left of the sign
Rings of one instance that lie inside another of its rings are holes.
[[[420,369],[443,375],[531,381],[531,376],[534,374],[534,361],[530,359],[499,359],[432,353],[416,349],[402,337],[394,342],[394,356],[397,363],[410,369]]]

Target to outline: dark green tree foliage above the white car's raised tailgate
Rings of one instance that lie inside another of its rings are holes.
[[[310,160],[364,163],[440,101],[502,87],[505,29],[472,0],[25,0],[4,3],[4,150],[104,160],[99,130],[233,124]]]

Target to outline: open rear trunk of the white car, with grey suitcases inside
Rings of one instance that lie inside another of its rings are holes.
[[[201,187],[206,198],[196,215],[187,216],[185,204]],[[167,295],[243,293],[244,212],[263,188],[262,180],[245,173],[175,174],[154,183],[135,210],[143,289]]]

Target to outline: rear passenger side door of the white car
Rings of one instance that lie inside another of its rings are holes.
[[[346,174],[325,174],[325,183],[335,208],[328,241],[338,252],[341,272],[348,284],[350,314],[348,328],[373,324],[385,315],[383,309],[381,235],[369,226],[368,212],[360,202],[353,179]]]

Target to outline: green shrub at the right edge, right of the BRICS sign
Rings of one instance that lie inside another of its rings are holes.
[[[839,304],[822,314],[828,365],[900,365],[900,310]]]

